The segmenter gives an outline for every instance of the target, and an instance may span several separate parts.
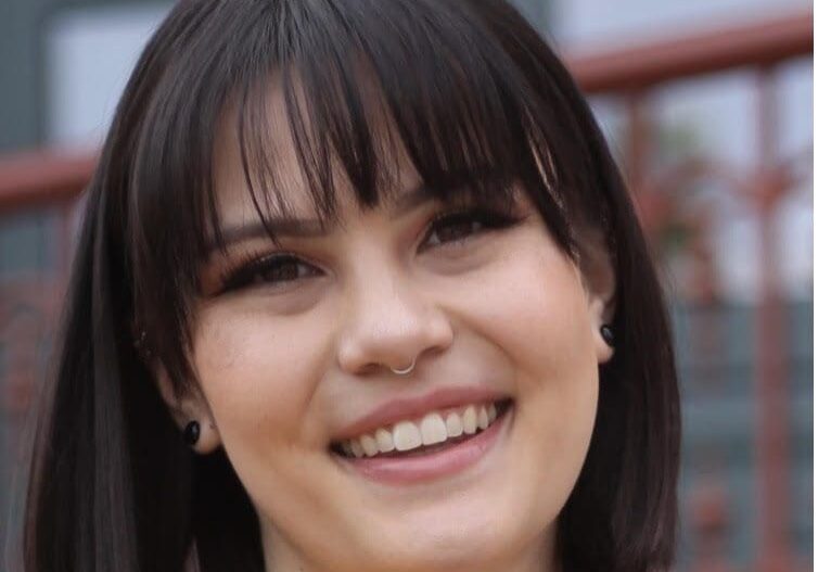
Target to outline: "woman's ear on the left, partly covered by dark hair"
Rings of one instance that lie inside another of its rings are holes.
[[[191,384],[192,386],[189,390],[183,390],[183,393],[180,394],[175,390],[164,366],[154,367],[153,370],[162,399],[170,410],[170,416],[179,431],[183,432],[191,421],[199,423],[199,440],[192,445],[193,450],[200,455],[207,455],[216,450],[221,445],[221,436],[207,399],[205,399],[199,385]]]

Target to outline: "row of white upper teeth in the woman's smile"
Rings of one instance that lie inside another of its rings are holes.
[[[444,416],[438,411],[426,414],[423,419],[400,421],[388,428],[379,428],[357,438],[345,440],[341,447],[348,457],[374,457],[393,450],[411,450],[423,445],[444,443],[463,434],[473,435],[485,431],[497,419],[497,406],[469,405],[465,409],[449,411]]]

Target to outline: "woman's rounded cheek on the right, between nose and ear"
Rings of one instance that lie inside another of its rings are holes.
[[[597,367],[581,277],[549,241],[524,239],[460,288],[452,305],[466,331],[506,354],[519,382],[572,387]]]

